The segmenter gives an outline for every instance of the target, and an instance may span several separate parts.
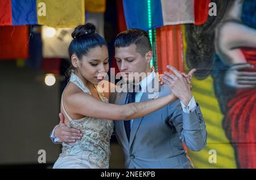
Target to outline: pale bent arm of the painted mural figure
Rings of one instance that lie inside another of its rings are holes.
[[[241,47],[256,48],[256,30],[242,24],[243,3],[234,1],[215,31],[216,52],[230,66],[246,63]]]

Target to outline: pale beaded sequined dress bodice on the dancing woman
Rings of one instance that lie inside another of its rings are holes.
[[[76,84],[84,93],[91,95],[82,80],[75,74],[71,75],[69,82]],[[98,92],[98,95],[102,101],[108,103],[108,98],[103,93]],[[110,138],[114,128],[113,121],[84,117],[69,121],[68,127],[79,129],[83,136],[76,143],[62,143],[60,157],[79,153],[82,155],[81,158],[85,158],[96,168],[109,168]]]

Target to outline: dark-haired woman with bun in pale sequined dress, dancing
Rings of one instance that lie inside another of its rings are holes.
[[[61,97],[61,113],[65,124],[79,129],[83,136],[76,143],[62,144],[53,168],[108,168],[113,120],[143,117],[177,98],[171,94],[146,102],[108,104],[109,92],[97,89],[109,70],[104,38],[89,23],[77,27],[72,37],[69,57],[73,71]]]

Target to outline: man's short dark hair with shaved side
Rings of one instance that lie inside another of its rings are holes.
[[[127,29],[117,35],[115,38],[115,48],[125,48],[132,44],[136,45],[136,51],[142,57],[152,50],[150,38],[146,31],[142,29]]]

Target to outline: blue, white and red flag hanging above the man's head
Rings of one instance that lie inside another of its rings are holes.
[[[127,28],[147,31],[163,25],[203,24],[208,18],[209,0],[123,0]],[[148,22],[148,16],[151,22]]]

